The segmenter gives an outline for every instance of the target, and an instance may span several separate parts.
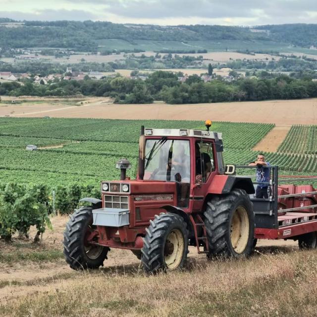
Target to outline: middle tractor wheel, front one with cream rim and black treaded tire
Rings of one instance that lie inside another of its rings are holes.
[[[173,213],[156,215],[146,229],[141,261],[148,273],[180,269],[188,253],[188,230],[181,216]]]

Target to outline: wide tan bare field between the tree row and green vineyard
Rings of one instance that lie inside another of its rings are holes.
[[[317,99],[272,100],[193,105],[114,105],[107,98],[94,98],[84,105],[63,106],[41,103],[0,104],[0,116],[66,117],[109,119],[167,119],[275,124],[317,124]]]

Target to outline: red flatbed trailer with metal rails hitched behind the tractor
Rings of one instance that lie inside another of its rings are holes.
[[[274,190],[266,202],[251,199],[256,216],[255,238],[292,239],[299,241],[300,248],[316,248],[317,190],[312,185],[278,183],[308,183],[317,181],[317,176],[278,178],[277,166],[267,168],[272,170],[270,183]]]

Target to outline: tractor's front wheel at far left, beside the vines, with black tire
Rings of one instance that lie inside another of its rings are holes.
[[[92,208],[75,210],[64,231],[64,256],[72,269],[98,268],[107,259],[107,247],[88,244],[86,235],[94,230]]]

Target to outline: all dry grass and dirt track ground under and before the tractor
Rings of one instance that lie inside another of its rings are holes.
[[[100,270],[73,271],[52,256],[67,219],[53,217],[39,246],[1,245],[0,316],[316,316],[317,251],[260,241],[248,260],[208,263],[191,248],[184,271],[147,276],[131,252],[115,249]]]

